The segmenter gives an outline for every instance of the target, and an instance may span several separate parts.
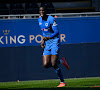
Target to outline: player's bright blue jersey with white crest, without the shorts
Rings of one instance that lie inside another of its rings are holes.
[[[42,17],[40,17],[38,22],[44,37],[59,37],[59,31],[54,17],[47,16],[47,21],[42,20]]]

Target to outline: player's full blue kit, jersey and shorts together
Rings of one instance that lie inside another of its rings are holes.
[[[59,31],[58,25],[52,16],[47,16],[47,20],[43,20],[42,17],[38,19],[40,28],[44,37],[50,37],[47,40],[43,55],[58,55],[59,51]]]

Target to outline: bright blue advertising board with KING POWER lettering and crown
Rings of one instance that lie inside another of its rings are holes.
[[[100,42],[100,17],[56,18],[62,44]],[[0,47],[40,45],[37,19],[0,20]]]

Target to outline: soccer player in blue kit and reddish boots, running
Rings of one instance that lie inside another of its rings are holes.
[[[40,18],[38,19],[39,26],[43,33],[43,40],[41,47],[44,48],[43,51],[43,66],[45,68],[53,67],[58,78],[60,78],[60,84],[57,87],[67,86],[64,81],[61,69],[58,63],[62,63],[69,69],[67,61],[63,57],[62,60],[58,61],[59,48],[60,48],[60,38],[59,31],[57,28],[57,23],[54,17],[46,14],[46,8],[39,8]]]

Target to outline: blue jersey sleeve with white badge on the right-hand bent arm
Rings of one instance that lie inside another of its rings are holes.
[[[50,24],[52,26],[52,30],[54,31],[54,33],[52,35],[50,35],[50,38],[53,38],[53,37],[55,37],[59,33],[59,31],[58,31],[58,25],[57,25],[56,20],[55,20],[54,17],[52,17],[50,19]]]

